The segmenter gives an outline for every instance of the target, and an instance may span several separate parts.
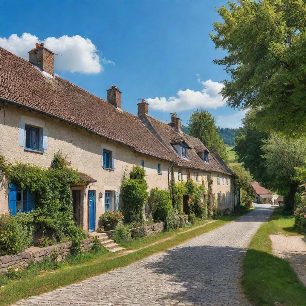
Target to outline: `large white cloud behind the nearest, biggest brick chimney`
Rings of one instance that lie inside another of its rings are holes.
[[[0,37],[0,46],[12,53],[29,59],[28,51],[35,47],[35,43],[45,43],[45,47],[56,54],[54,59],[55,70],[68,70],[79,73],[100,73],[103,71],[101,63],[114,62],[102,58],[98,55],[97,47],[90,39],[85,39],[80,35],[67,36],[59,38],[48,37],[40,40],[37,36],[30,33],[23,33],[20,37],[12,34],[9,38]]]

